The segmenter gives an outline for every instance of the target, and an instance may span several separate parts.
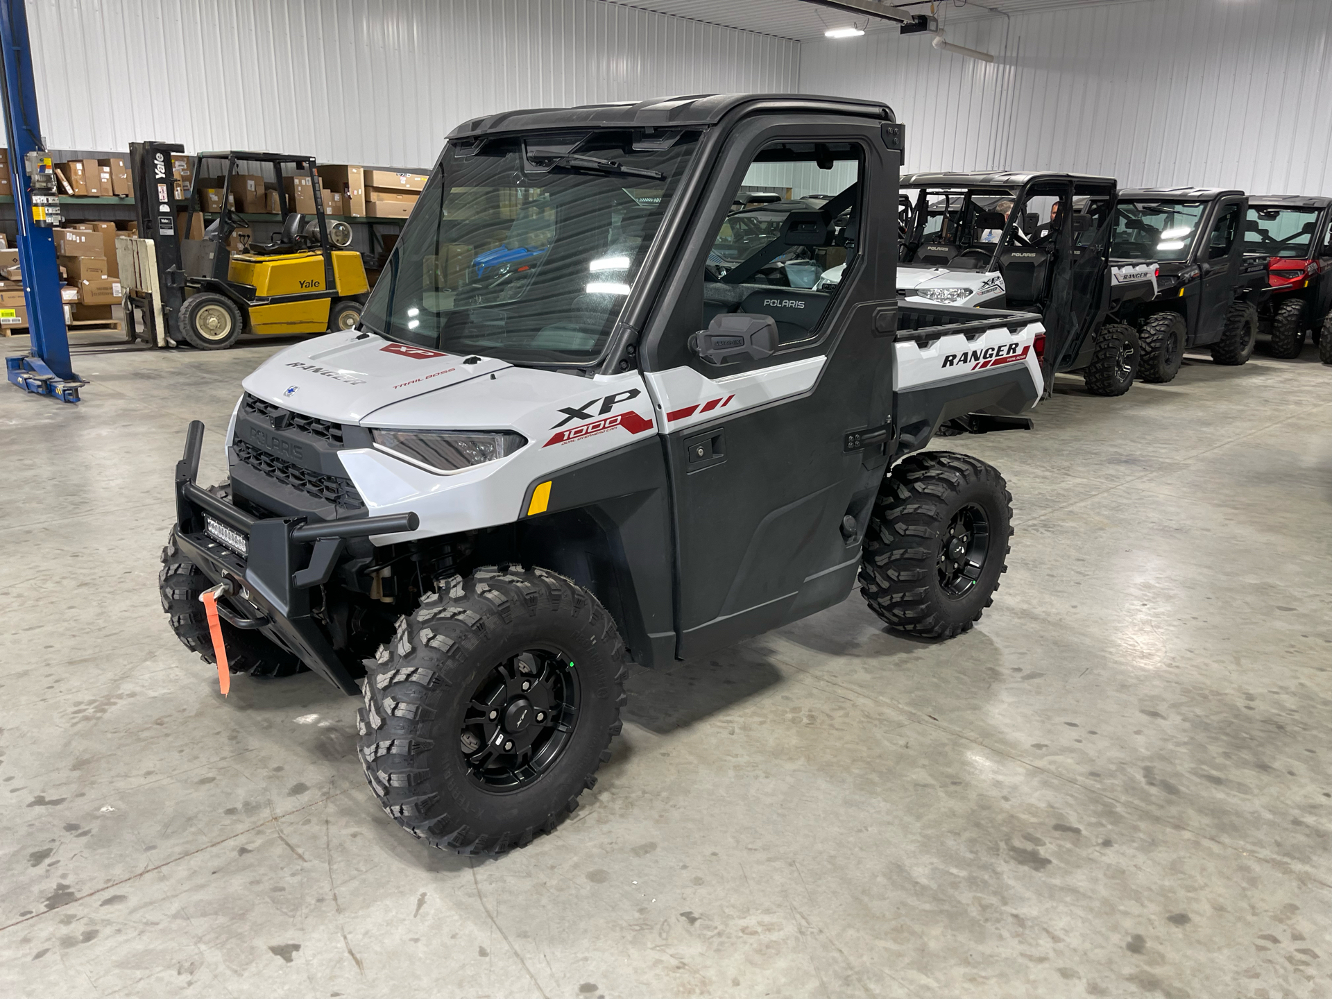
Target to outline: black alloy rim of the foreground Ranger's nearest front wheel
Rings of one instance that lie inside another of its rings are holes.
[[[578,721],[578,667],[555,649],[530,649],[496,666],[472,693],[458,749],[488,791],[526,787],[553,767]]]

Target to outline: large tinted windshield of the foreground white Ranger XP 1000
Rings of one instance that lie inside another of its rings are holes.
[[[362,325],[517,364],[595,361],[695,140],[606,131],[485,139],[476,152],[450,143]]]

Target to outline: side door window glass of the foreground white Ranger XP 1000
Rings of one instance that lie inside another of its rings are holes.
[[[770,143],[750,164],[707,254],[703,322],[771,316],[798,344],[819,322],[856,249],[863,149],[856,143]]]

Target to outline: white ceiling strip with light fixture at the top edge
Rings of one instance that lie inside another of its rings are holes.
[[[972,17],[995,17],[1000,13],[1048,11],[1058,7],[1135,1],[1142,0],[938,0],[934,7],[940,21],[947,23]],[[729,28],[743,28],[798,41],[822,39],[823,32],[829,28],[843,28],[852,23],[870,32],[896,32],[898,29],[891,21],[834,11],[807,0],[607,0],[607,3],[673,13],[697,21],[723,24]],[[898,5],[911,13],[928,13],[931,7],[930,3],[907,3],[906,0],[898,0]]]

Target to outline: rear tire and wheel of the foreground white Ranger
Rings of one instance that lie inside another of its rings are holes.
[[[883,480],[860,553],[860,594],[888,627],[952,638],[980,619],[1007,571],[1012,496],[968,454],[908,454]]]

